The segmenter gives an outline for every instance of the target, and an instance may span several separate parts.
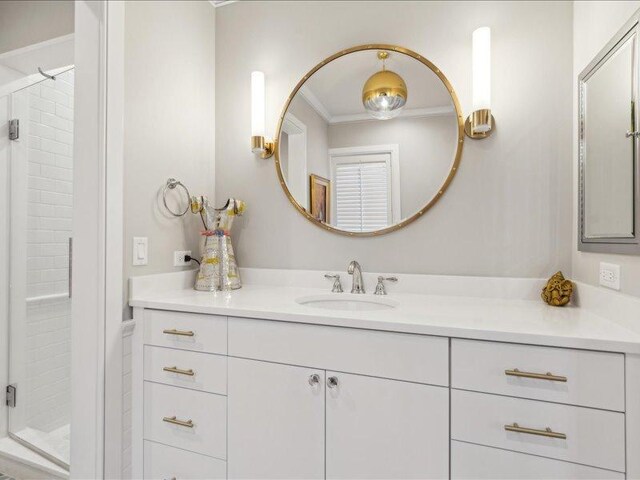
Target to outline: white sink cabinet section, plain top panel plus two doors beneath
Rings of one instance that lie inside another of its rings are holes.
[[[447,382],[447,339],[230,318],[229,355],[229,478],[448,477],[446,384],[377,376]]]

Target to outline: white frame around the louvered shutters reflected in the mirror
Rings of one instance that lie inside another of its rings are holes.
[[[398,223],[402,218],[402,207],[400,205],[400,147],[397,143],[388,145],[363,145],[356,147],[341,147],[329,149],[329,176],[331,182],[335,185],[334,165],[340,161],[342,157],[351,157],[355,155],[374,155],[376,153],[388,153],[391,158],[391,224]],[[331,189],[331,195],[335,195],[335,188]],[[331,218],[336,218],[336,199],[331,198]]]

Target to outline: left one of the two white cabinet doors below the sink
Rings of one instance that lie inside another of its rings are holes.
[[[229,478],[324,478],[324,377],[229,358]]]

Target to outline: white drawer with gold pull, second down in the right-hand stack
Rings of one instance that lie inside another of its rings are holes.
[[[566,438],[507,431],[505,426],[514,423],[540,433],[550,428]],[[625,470],[624,414],[618,412],[452,390],[451,438],[618,472]]]

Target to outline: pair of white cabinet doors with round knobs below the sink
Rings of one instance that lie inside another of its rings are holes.
[[[445,478],[446,388],[229,359],[229,478]]]

